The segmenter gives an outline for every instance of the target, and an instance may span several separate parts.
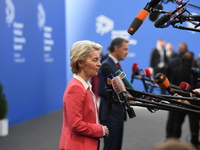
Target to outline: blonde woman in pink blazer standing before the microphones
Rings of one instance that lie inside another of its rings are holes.
[[[96,76],[101,63],[102,46],[88,40],[75,42],[70,52],[70,66],[74,73],[63,96],[63,124],[59,149],[98,150],[99,138],[109,130],[99,124],[98,108],[88,81]]]

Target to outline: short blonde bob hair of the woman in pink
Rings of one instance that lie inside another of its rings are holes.
[[[80,68],[78,66],[78,62],[82,61],[84,62],[89,52],[98,50],[99,53],[102,51],[102,46],[98,43],[83,40],[83,41],[77,41],[72,45],[71,51],[70,51],[70,67],[71,71],[73,73],[78,73],[80,71]]]

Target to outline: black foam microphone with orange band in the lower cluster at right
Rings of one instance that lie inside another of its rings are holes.
[[[163,89],[166,89],[171,95],[175,95],[175,92],[172,90],[172,88],[170,87],[170,83],[168,78],[162,74],[162,73],[157,73],[154,76],[154,79],[156,81],[156,83]]]

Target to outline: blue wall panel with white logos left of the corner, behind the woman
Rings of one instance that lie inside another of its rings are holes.
[[[0,2],[0,82],[10,125],[62,106],[65,76],[64,2]]]

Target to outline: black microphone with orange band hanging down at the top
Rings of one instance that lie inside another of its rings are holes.
[[[146,6],[137,14],[135,19],[132,21],[130,27],[128,28],[128,33],[133,35],[139,27],[142,25],[143,21],[148,16],[150,10],[154,8],[161,0],[151,0]]]

